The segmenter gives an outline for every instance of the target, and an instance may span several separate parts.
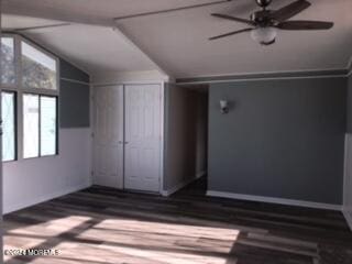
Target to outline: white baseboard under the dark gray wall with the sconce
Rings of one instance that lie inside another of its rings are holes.
[[[328,209],[328,210],[336,210],[336,211],[342,210],[342,206],[340,206],[340,205],[320,204],[320,202],[302,201],[302,200],[292,200],[292,199],[273,198],[273,197],[265,197],[265,196],[239,195],[239,194],[215,191],[215,190],[208,190],[207,196],[239,199],[239,200],[250,200],[250,201],[262,201],[262,202],[278,204],[278,205],[286,205],[286,206]]]

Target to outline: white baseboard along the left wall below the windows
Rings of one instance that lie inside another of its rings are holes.
[[[89,183],[86,183],[86,184],[82,184],[82,185],[79,185],[79,186],[75,186],[75,187],[70,187],[70,188],[67,188],[67,189],[58,190],[58,191],[53,193],[53,194],[35,197],[35,198],[33,198],[31,200],[25,200],[25,201],[21,201],[21,202],[18,202],[18,204],[10,205],[10,206],[6,206],[3,208],[3,215],[10,213],[10,212],[13,212],[13,211],[18,211],[18,210],[21,210],[21,209],[24,209],[24,208],[28,208],[28,207],[44,202],[44,201],[48,201],[48,200],[52,200],[52,199],[55,199],[55,198],[58,198],[58,197],[62,197],[62,196],[65,196],[65,195],[72,194],[72,193],[76,193],[76,191],[86,189],[86,188],[88,188],[91,185]]]

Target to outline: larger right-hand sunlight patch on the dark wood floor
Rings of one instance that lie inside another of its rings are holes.
[[[102,231],[107,235],[100,248],[170,264],[224,264],[240,233],[224,228],[109,219],[80,237],[94,238]]]

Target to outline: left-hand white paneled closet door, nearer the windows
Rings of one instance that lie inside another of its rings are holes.
[[[123,86],[96,88],[95,103],[94,183],[123,188]]]

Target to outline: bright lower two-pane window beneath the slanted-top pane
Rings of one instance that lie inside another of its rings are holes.
[[[23,95],[23,157],[57,153],[57,98]]]

